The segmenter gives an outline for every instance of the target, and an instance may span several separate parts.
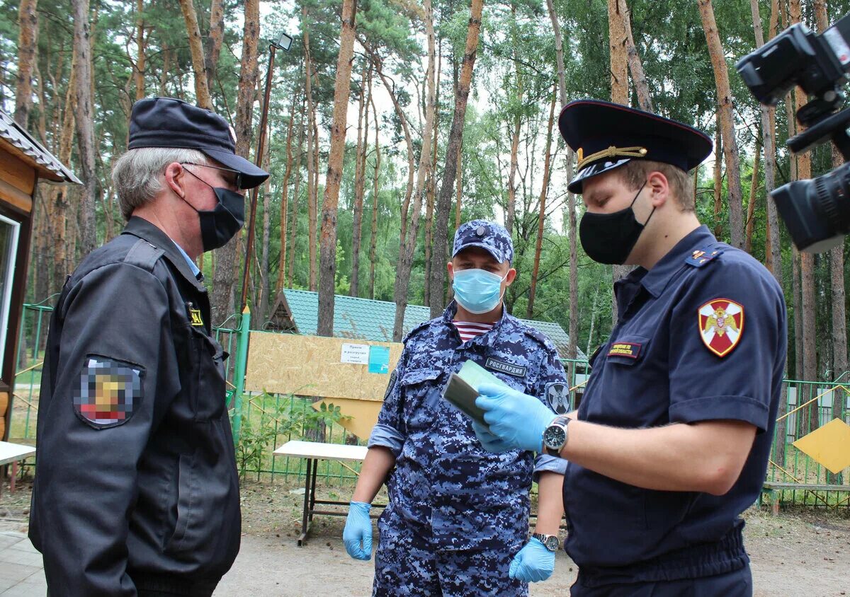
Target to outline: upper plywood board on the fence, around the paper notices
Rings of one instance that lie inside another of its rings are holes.
[[[298,396],[382,401],[404,347],[400,342],[371,342],[314,335],[251,332],[245,389]],[[368,364],[343,363],[343,344],[389,349],[385,373],[369,373]]]

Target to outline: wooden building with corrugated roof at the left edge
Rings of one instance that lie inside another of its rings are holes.
[[[68,168],[0,110],[0,437],[8,439],[15,354],[26,296],[38,182],[80,184]]]

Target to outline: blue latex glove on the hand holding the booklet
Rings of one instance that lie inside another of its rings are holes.
[[[540,452],[543,431],[555,414],[536,397],[496,384],[481,384],[475,404],[486,411],[490,433],[510,448]]]

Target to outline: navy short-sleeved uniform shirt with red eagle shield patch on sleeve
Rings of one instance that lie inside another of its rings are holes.
[[[757,436],[722,496],[643,489],[570,463],[567,552],[583,574],[626,582],[745,566],[739,515],[764,482],[785,367],[782,290],[702,226],[615,284],[615,296],[620,320],[592,358],[580,420],[632,429],[741,420]]]

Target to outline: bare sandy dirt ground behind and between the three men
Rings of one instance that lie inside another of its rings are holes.
[[[321,483],[320,483],[321,485]],[[26,532],[29,483],[0,496],[0,530]],[[351,487],[317,487],[318,497],[347,500]],[[371,594],[373,562],[345,553],[345,519],[316,515],[308,543],[297,547],[303,486],[243,482],[242,545],[216,596],[302,597]],[[757,597],[820,597],[850,594],[850,511],[783,511],[774,517],[755,509],[745,513],[745,538]],[[530,594],[569,595],[576,568],[558,553],[553,576],[534,583]]]

